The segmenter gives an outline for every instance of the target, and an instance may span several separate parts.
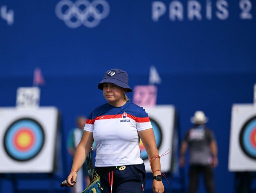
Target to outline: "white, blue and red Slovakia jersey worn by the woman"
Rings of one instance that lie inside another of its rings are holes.
[[[95,166],[141,164],[138,131],[152,128],[145,110],[127,101],[120,107],[109,103],[95,108],[84,130],[93,132],[96,143]]]

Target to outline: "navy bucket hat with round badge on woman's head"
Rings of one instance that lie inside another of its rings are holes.
[[[104,83],[114,83],[119,87],[127,89],[128,92],[132,92],[132,89],[128,86],[128,74],[120,69],[108,70],[103,80],[98,84],[98,89],[103,90]]]

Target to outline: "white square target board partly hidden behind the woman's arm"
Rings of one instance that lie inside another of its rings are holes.
[[[168,153],[172,150],[175,108],[173,105],[156,105],[154,107],[144,107],[150,118],[158,152],[160,155]],[[147,152],[140,142],[141,157],[144,161],[146,172],[152,172]],[[171,170],[172,152],[160,158],[161,171],[170,172]]]

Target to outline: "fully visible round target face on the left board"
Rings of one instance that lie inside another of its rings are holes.
[[[42,126],[31,118],[15,120],[4,135],[6,153],[14,160],[27,161],[34,158],[44,145]]]

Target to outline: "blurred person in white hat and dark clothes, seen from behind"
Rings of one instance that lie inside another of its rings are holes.
[[[202,173],[208,193],[214,193],[213,169],[218,165],[217,143],[213,132],[206,128],[208,118],[203,111],[196,111],[190,118],[194,126],[184,137],[180,147],[180,167],[185,166],[185,153],[189,147],[189,193],[196,193]]]

